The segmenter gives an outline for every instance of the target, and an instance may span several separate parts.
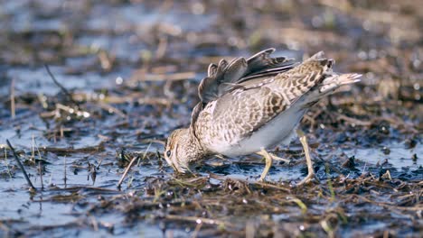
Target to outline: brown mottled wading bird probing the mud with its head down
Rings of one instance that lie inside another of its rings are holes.
[[[164,159],[174,170],[191,172],[191,165],[212,155],[258,153],[266,160],[258,179],[264,181],[272,160],[283,160],[268,150],[287,146],[298,137],[308,174],[297,185],[315,178],[305,133],[298,124],[320,99],[360,81],[361,75],[335,73],[334,59],[326,59],[323,51],[297,62],[272,58],[275,50],[209,65],[198,87],[200,100],[189,126],[174,130],[164,143]]]

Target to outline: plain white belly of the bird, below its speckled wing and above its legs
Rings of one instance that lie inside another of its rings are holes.
[[[277,115],[249,138],[232,145],[220,143],[212,150],[226,156],[240,156],[260,151],[263,148],[269,149],[279,143],[287,145],[296,136],[296,127],[304,113],[305,109],[290,108]]]

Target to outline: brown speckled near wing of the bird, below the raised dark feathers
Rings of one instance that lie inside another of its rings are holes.
[[[203,132],[225,132],[221,140],[236,141],[232,136],[248,137],[267,124],[302,96],[332,74],[332,59],[317,53],[293,69],[276,77],[244,81],[237,89],[205,105],[199,120],[210,120],[216,128],[202,128]],[[230,108],[230,110],[229,110]],[[227,123],[235,120],[233,123]]]

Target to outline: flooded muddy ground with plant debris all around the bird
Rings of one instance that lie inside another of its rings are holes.
[[[421,237],[423,9],[416,1],[0,1],[0,235]],[[362,82],[300,142],[175,174],[209,63],[317,51]],[[49,70],[51,74],[49,74]],[[35,189],[14,159],[14,147]],[[121,179],[123,178],[123,179]]]

